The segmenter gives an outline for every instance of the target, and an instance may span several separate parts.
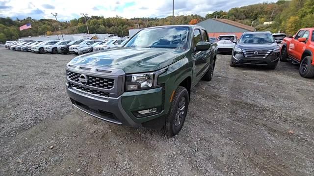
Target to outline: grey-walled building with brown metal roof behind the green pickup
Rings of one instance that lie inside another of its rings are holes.
[[[196,25],[206,28],[209,37],[218,37],[219,35],[235,34],[240,37],[243,32],[253,32],[255,27],[244,25],[227,19],[206,19]]]

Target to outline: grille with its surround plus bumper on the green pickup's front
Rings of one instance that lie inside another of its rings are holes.
[[[86,71],[86,68],[90,70]],[[164,125],[167,114],[164,110],[163,86],[124,92],[125,72],[122,69],[69,63],[66,72],[67,93],[78,109],[99,119],[124,126],[158,129]],[[79,81],[81,75],[87,77],[87,85]],[[152,108],[157,108],[157,112],[144,115],[138,113]]]

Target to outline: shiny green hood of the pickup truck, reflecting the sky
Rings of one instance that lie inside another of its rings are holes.
[[[160,48],[115,48],[88,53],[70,63],[123,69],[126,74],[162,69],[184,58],[186,50]]]

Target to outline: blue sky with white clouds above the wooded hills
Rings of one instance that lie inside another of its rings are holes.
[[[277,0],[175,0],[174,14],[205,16],[214,11],[227,11],[233,7]],[[85,2],[85,3],[84,3]],[[87,2],[87,3],[86,3]],[[58,14],[58,20],[69,21],[88,16],[123,18],[151,17],[162,18],[172,15],[172,0],[0,0],[0,17],[12,19],[54,19],[51,13]]]

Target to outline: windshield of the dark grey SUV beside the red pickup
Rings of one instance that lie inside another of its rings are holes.
[[[272,34],[244,34],[242,35],[239,43],[244,44],[269,44],[274,43]]]

